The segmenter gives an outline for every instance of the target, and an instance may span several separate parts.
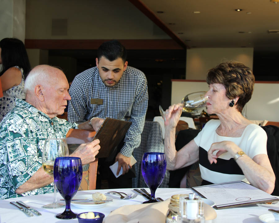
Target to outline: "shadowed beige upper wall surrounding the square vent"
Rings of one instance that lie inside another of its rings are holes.
[[[52,19],[68,34],[51,35]],[[170,39],[127,0],[27,0],[26,39]]]

